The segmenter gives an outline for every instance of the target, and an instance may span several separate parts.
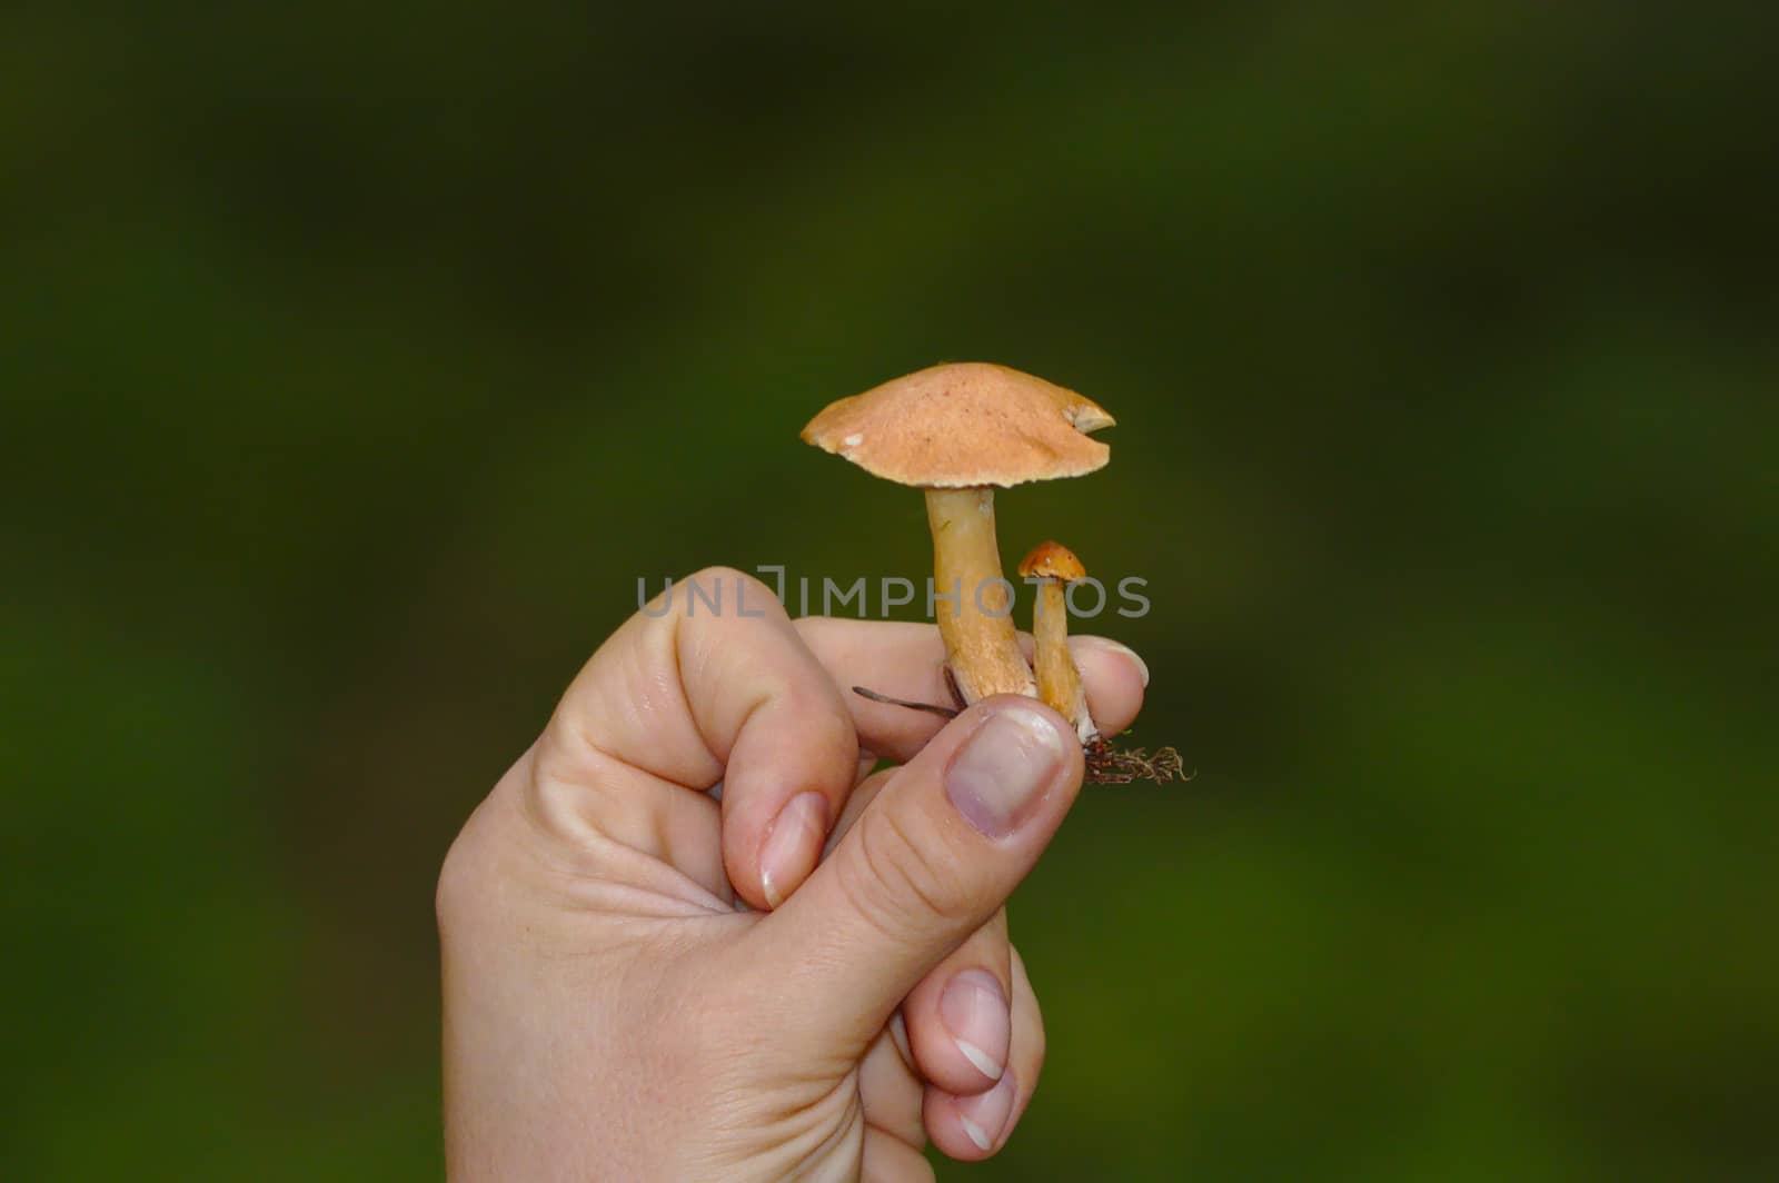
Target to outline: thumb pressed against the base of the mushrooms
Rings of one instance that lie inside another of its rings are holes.
[[[1059,713],[996,696],[954,719],[877,793],[834,852],[753,932],[781,1030],[873,1039],[902,998],[994,914],[1082,786]]]

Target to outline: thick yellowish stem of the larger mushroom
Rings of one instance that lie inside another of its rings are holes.
[[[1012,626],[1012,585],[994,543],[994,489],[927,489],[934,616],[964,703],[991,694],[1037,697]]]

